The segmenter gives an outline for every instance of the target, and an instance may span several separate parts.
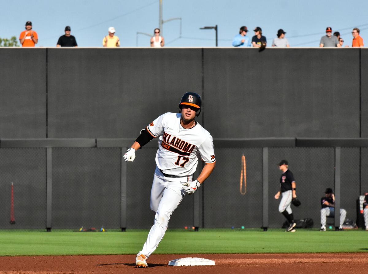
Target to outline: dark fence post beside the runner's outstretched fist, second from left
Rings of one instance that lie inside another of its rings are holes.
[[[124,161],[126,147],[120,148],[120,228],[127,228],[127,163]]]

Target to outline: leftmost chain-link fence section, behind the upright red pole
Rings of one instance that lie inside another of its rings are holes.
[[[0,149],[0,228],[45,228],[46,151],[44,148]],[[15,224],[10,224],[11,183]]]

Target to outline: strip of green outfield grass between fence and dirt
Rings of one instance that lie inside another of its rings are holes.
[[[136,254],[148,230],[127,232],[0,231],[0,256]],[[171,229],[155,254],[368,252],[368,232],[298,229]]]

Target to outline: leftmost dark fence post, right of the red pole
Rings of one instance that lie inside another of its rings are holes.
[[[52,227],[52,148],[46,148],[46,230]]]

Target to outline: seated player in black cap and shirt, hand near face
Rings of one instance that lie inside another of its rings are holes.
[[[325,191],[325,197],[321,198],[321,231],[326,231],[326,219],[327,217],[335,217],[335,195],[332,189],[327,188]],[[340,208],[340,226],[339,229],[342,230],[342,225],[345,221],[346,210]]]

